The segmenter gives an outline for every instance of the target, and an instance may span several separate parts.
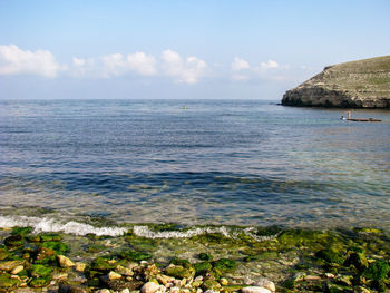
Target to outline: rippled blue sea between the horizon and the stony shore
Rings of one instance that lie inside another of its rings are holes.
[[[0,215],[390,227],[390,111],[269,101],[0,101]],[[12,207],[12,208],[11,208]]]

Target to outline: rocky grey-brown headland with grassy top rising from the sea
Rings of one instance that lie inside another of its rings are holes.
[[[390,56],[325,67],[286,91],[282,105],[335,108],[390,108]]]

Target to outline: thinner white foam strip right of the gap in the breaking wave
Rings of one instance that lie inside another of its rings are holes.
[[[134,226],[134,234],[146,238],[189,238],[206,233],[220,233],[226,237],[230,237],[230,233],[226,227],[205,227],[193,228],[187,231],[159,231],[154,232],[148,226]]]

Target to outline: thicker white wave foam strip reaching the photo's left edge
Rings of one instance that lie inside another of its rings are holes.
[[[62,232],[67,234],[86,235],[95,234],[98,236],[119,236],[127,232],[127,228],[120,227],[94,227],[88,224],[78,223],[75,221],[60,223],[53,218],[39,218],[39,217],[27,217],[27,216],[1,216],[0,215],[0,227],[10,228],[16,226],[31,226],[33,233],[40,232]]]

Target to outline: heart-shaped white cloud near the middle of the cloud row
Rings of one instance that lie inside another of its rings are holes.
[[[206,74],[206,62],[196,57],[188,57],[184,61],[177,52],[165,50],[162,59],[165,75],[177,82],[196,84]]]

